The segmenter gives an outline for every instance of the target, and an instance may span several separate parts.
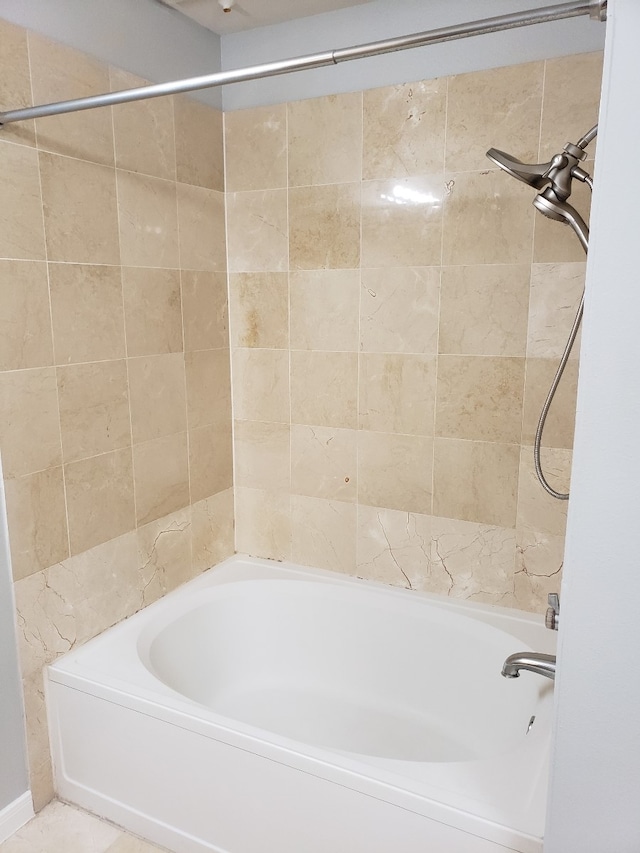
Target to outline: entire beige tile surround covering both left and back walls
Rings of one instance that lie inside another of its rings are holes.
[[[2,107],[143,82],[5,23],[0,66]],[[484,151],[550,156],[595,122],[599,75],[588,55],[226,116],[238,550],[529,609],[557,588],[566,507],[530,445],[584,258]],[[181,98],[0,135],[37,806],[42,667],[233,550],[222,143]],[[561,485],[576,377],[545,436]]]

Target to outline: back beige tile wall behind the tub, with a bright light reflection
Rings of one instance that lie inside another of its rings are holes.
[[[485,151],[576,141],[600,74],[590,54],[226,114],[238,550],[528,610],[558,589],[566,503],[531,445],[584,254]],[[577,364],[545,432],[562,488]]]

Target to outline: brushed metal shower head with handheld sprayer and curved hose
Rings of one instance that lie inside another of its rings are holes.
[[[522,163],[516,157],[505,154],[504,151],[499,151],[497,148],[490,148],[487,151],[487,157],[497,166],[500,166],[508,175],[538,190],[538,195],[533,200],[536,210],[540,211],[547,219],[570,225],[585,252],[589,251],[589,228],[575,207],[567,202],[567,199],[571,195],[574,179],[585,183],[590,190],[593,190],[593,179],[580,166],[580,163],[587,156],[584,149],[595,139],[597,134],[598,125],[596,124],[575,145],[572,142],[567,142],[562,153],[556,154],[548,163]],[[533,441],[533,459],[538,480],[552,497],[561,501],[568,500],[569,493],[558,492],[547,482],[540,461],[540,448],[542,446],[542,432],[547,415],[549,414],[551,403],[553,402],[569,356],[571,355],[571,350],[573,349],[573,344],[580,328],[580,322],[582,321],[583,311],[584,293],[582,294],[573,326],[569,332],[569,338],[562,353],[556,375],[553,378],[547,399],[542,407]]]

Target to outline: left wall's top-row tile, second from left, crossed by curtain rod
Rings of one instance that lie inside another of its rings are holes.
[[[106,65],[34,32],[29,33],[29,59],[36,104],[110,91]],[[111,107],[36,119],[36,132],[41,150],[113,166]]]

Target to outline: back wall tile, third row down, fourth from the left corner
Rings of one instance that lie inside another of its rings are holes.
[[[442,353],[523,356],[529,311],[528,264],[442,270]]]

